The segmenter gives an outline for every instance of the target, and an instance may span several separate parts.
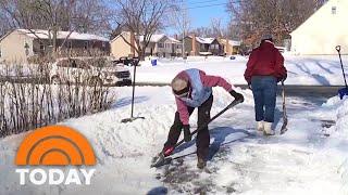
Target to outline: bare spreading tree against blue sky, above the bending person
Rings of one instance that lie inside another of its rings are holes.
[[[174,1],[175,2],[175,1]],[[122,34],[123,40],[129,44],[139,58],[144,60],[146,48],[152,35],[164,27],[165,12],[174,4],[171,0],[114,0],[115,18],[120,31],[127,30],[136,37],[136,46]]]

